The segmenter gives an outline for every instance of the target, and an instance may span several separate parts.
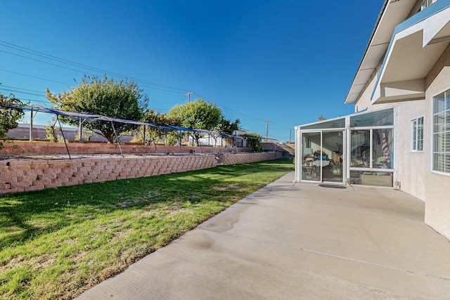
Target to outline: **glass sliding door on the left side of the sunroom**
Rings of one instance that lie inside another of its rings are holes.
[[[302,132],[302,181],[342,183],[344,131]]]

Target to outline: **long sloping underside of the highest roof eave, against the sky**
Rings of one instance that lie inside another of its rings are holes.
[[[386,1],[384,11],[381,12],[382,15],[378,24],[375,24],[371,41],[369,41],[366,53],[364,53],[364,57],[353,79],[352,86],[350,86],[349,93],[345,99],[346,104],[355,103],[359,96],[361,96],[362,88],[356,94],[354,91],[357,89],[354,89],[354,85],[366,85],[371,79],[373,70],[376,69],[387,51],[395,27],[408,18],[414,4],[416,4],[416,0]],[[372,72],[361,72],[366,70],[372,70]]]

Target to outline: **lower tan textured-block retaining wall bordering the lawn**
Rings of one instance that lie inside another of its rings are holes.
[[[0,160],[0,194],[137,178],[276,159],[280,153]]]

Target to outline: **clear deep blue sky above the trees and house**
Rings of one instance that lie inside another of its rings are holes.
[[[270,121],[269,138],[293,141],[296,125],[353,112],[345,96],[382,5],[2,1],[0,93],[49,107],[47,87],[62,93],[85,73],[107,72],[134,78],[160,112],[186,103],[184,94],[193,91],[191,100],[213,100],[243,129],[265,136]],[[38,114],[34,122],[49,119]]]

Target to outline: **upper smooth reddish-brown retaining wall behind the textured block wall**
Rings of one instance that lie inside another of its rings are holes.
[[[67,155],[68,151],[64,143],[49,142],[26,142],[13,141],[3,142],[4,149],[0,155]],[[249,148],[226,148],[212,146],[166,146],[166,145],[120,145],[122,152],[127,154],[136,153],[217,153],[217,152],[250,152]],[[68,149],[72,155],[80,154],[120,154],[117,144],[108,143],[68,143]]]

